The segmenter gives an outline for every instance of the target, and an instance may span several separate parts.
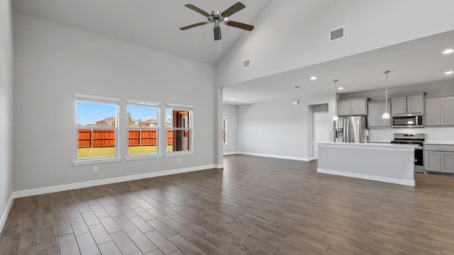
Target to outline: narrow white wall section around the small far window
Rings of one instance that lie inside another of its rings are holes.
[[[223,118],[227,119],[227,140],[223,154],[238,152],[238,106],[223,104]]]

